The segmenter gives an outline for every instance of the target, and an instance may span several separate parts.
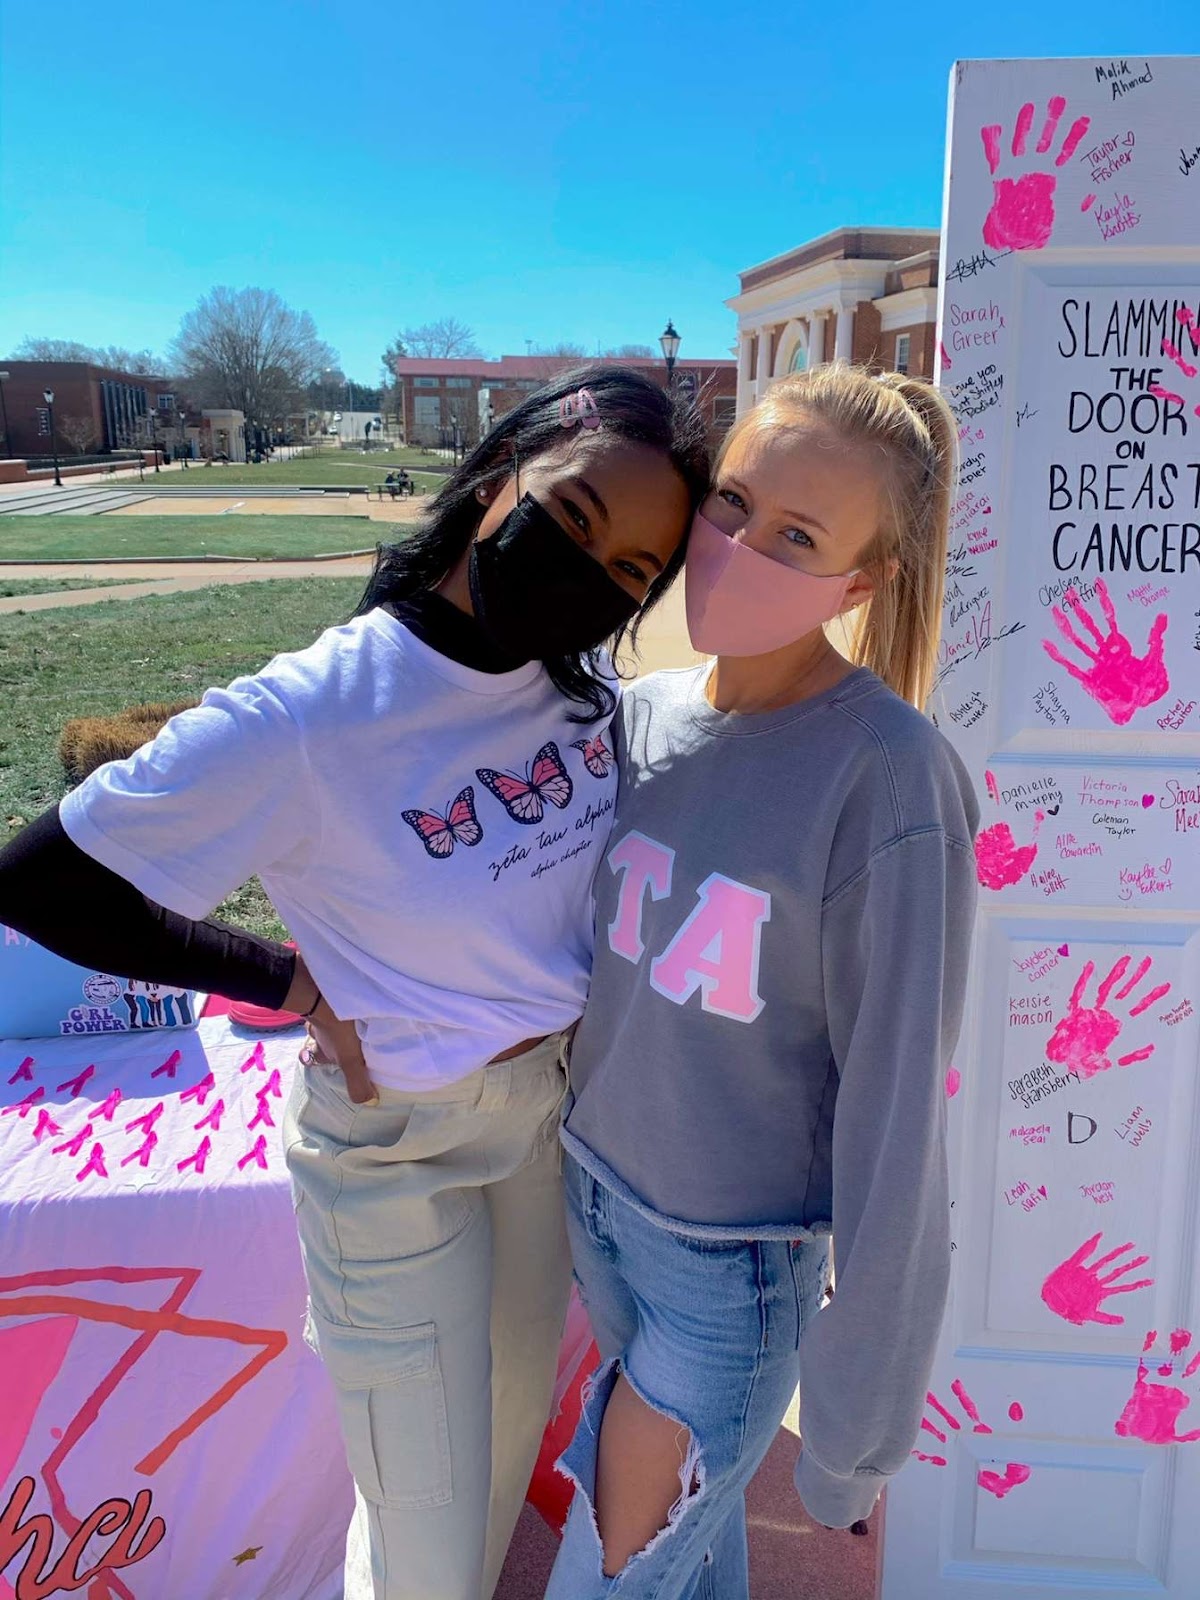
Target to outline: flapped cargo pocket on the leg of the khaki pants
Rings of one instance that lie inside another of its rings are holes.
[[[333,1379],[346,1458],[363,1499],[392,1510],[450,1504],[437,1325],[349,1328],[309,1307],[304,1338]]]

